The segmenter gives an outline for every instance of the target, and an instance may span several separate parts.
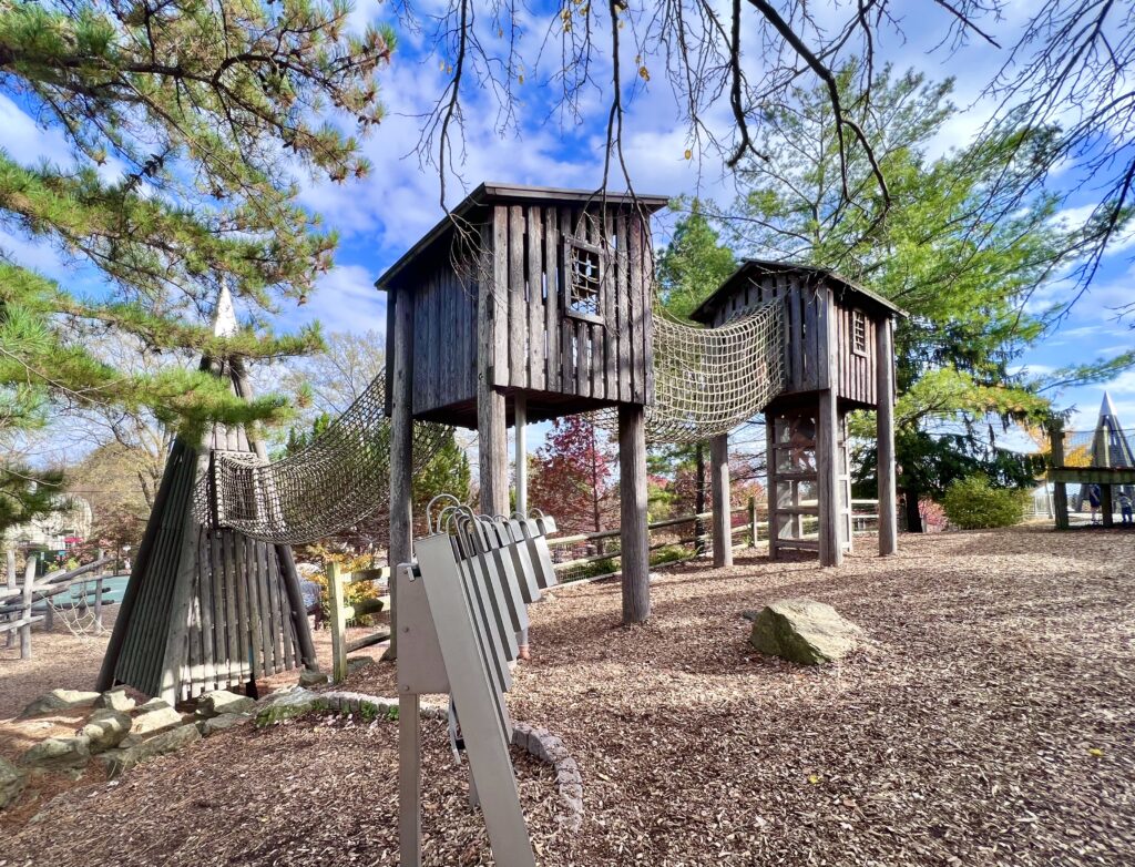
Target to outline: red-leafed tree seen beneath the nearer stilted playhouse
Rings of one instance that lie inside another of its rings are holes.
[[[592,532],[616,521],[614,449],[582,415],[556,419],[536,449],[529,499],[568,532]]]

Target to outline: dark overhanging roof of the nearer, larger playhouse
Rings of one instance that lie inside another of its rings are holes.
[[[547,202],[550,204],[579,204],[603,202],[619,208],[637,207],[650,214],[666,207],[670,201],[664,195],[646,195],[633,193],[604,193],[602,190],[568,190],[550,186],[524,186],[521,184],[499,184],[485,182],[466,195],[457,207],[443,217],[438,224],[407,250],[397,262],[382,273],[375,285],[382,291],[397,285],[398,278],[422,259],[432,256],[437,246],[448,243],[454,229],[454,219],[476,220],[480,211],[493,204],[531,204]]]

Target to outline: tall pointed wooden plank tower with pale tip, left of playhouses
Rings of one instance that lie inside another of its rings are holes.
[[[215,331],[232,335],[228,289]],[[235,394],[251,395],[239,359],[201,360]],[[215,424],[200,448],[178,437],[138,547],[98,689],[127,684],[170,704],[317,665],[292,550],[202,523],[193,507],[213,452],[264,457],[243,426]]]

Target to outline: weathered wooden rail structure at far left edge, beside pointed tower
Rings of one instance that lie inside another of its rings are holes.
[[[18,634],[19,658],[31,659],[32,626],[35,623],[43,623],[50,632],[54,617],[54,598],[62,594],[74,594],[76,586],[81,588],[76,607],[89,611],[93,606],[94,626],[101,631],[103,581],[109,576],[107,566],[114,562],[114,557],[104,557],[100,550],[92,563],[36,579],[35,561],[28,558],[22,586],[17,586],[15,564],[9,562],[8,583],[0,590],[0,632],[8,633],[8,647],[11,647],[14,638]],[[93,599],[89,589],[91,584],[94,586]],[[36,613],[37,608],[42,614]]]

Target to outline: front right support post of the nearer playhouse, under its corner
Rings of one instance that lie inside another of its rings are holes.
[[[623,623],[650,617],[649,530],[646,516],[646,411],[619,406],[619,506],[623,569]]]

